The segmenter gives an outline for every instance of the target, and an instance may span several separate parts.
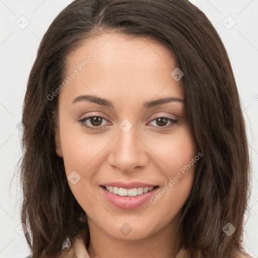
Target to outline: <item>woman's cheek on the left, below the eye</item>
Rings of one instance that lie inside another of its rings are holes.
[[[82,207],[95,207],[95,199],[91,194],[95,186],[94,179],[101,166],[101,151],[110,139],[105,136],[89,137],[83,131],[84,128],[72,123],[63,123],[61,128],[62,156],[71,191]]]

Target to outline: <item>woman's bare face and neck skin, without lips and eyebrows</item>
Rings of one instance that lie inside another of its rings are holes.
[[[147,201],[137,209],[123,210],[110,204],[100,191],[100,185],[110,181],[141,181],[162,189],[197,155],[185,103],[143,109],[144,102],[162,97],[184,100],[182,80],[177,82],[170,76],[177,67],[175,58],[150,39],[103,33],[68,56],[67,76],[96,48],[100,53],[58,95],[55,134],[56,153],[63,157],[67,176],[72,171],[81,176],[76,184],[68,182],[87,213],[89,255],[175,257],[182,243],[181,228],[177,238],[175,233],[196,164],[155,204]],[[83,94],[108,99],[114,108],[90,101],[71,104]],[[91,115],[104,119],[79,122]],[[162,126],[154,120],[157,117],[178,122],[165,120]],[[119,127],[124,119],[133,125],[127,133]],[[83,124],[100,130],[89,130]],[[119,230],[124,223],[132,228],[128,235]]]

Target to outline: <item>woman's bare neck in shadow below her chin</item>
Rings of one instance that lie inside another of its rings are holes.
[[[124,240],[112,237],[101,230],[90,218],[88,218],[90,229],[90,243],[88,253],[90,258],[175,258],[182,244],[182,231],[178,230],[180,214],[171,221],[169,225],[155,234],[141,239]]]

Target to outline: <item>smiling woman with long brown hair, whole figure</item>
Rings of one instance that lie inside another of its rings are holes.
[[[22,122],[33,257],[250,257],[239,95],[188,1],[74,1],[41,41]]]

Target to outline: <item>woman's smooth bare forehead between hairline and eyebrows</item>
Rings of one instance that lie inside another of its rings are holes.
[[[82,93],[110,98],[134,94],[149,100],[160,92],[184,97],[182,80],[170,75],[177,67],[173,53],[150,38],[103,33],[71,52],[67,67],[66,76],[77,74],[61,91],[70,98]]]

